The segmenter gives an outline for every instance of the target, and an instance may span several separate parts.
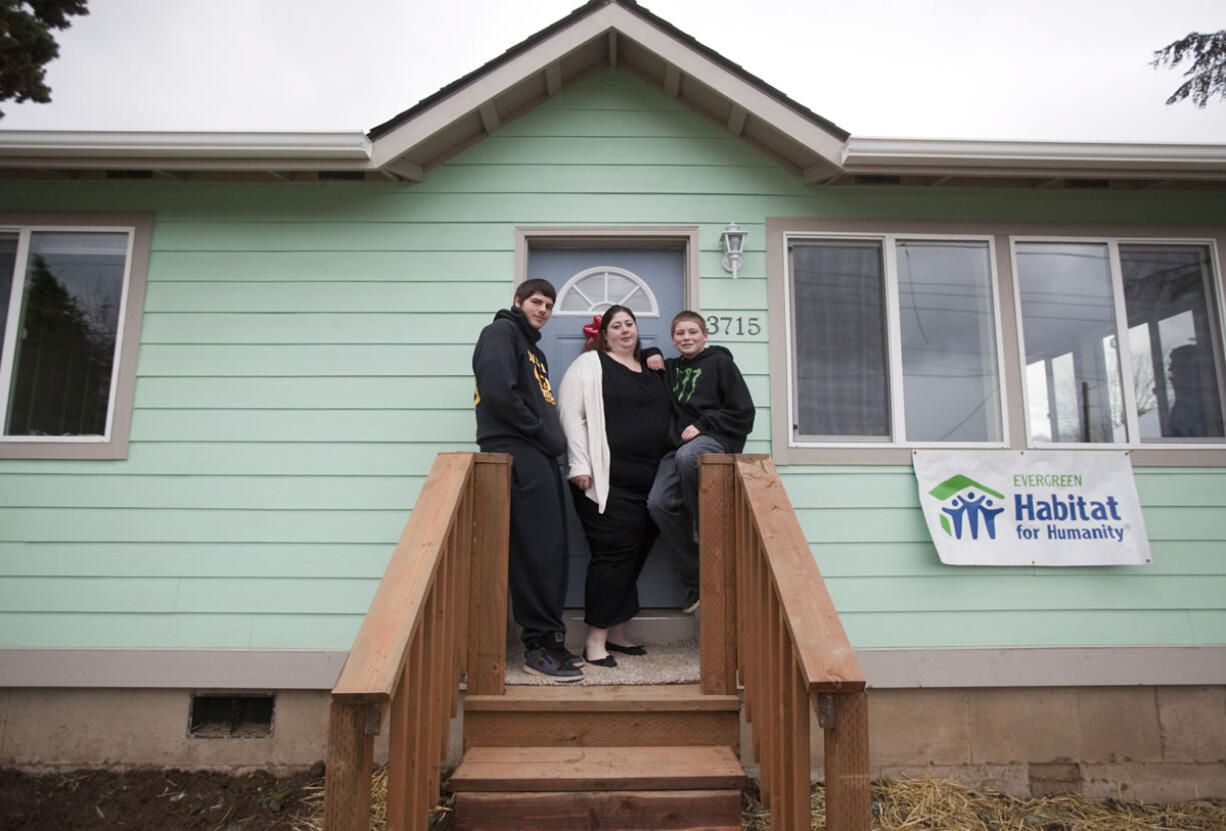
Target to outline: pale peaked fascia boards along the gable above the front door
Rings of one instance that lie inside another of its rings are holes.
[[[617,5],[608,5],[516,55],[488,75],[434,104],[374,142],[374,165],[383,167],[452,121],[524,78],[543,72],[592,38],[615,29],[656,53],[683,74],[701,81],[748,113],[772,124],[831,164],[839,165],[843,142],[736,74]]]

